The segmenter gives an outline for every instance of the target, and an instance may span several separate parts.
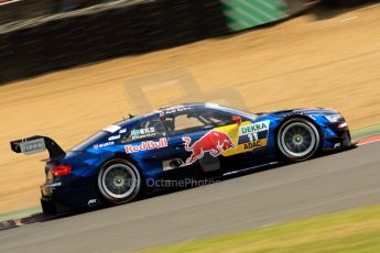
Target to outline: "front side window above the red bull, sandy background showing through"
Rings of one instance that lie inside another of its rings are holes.
[[[171,134],[197,132],[234,123],[230,113],[210,109],[196,109],[177,114],[166,114],[163,120]]]

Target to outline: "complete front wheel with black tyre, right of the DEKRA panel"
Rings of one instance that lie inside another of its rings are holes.
[[[304,161],[312,157],[321,142],[316,127],[305,119],[291,119],[281,125],[276,143],[283,157]]]

